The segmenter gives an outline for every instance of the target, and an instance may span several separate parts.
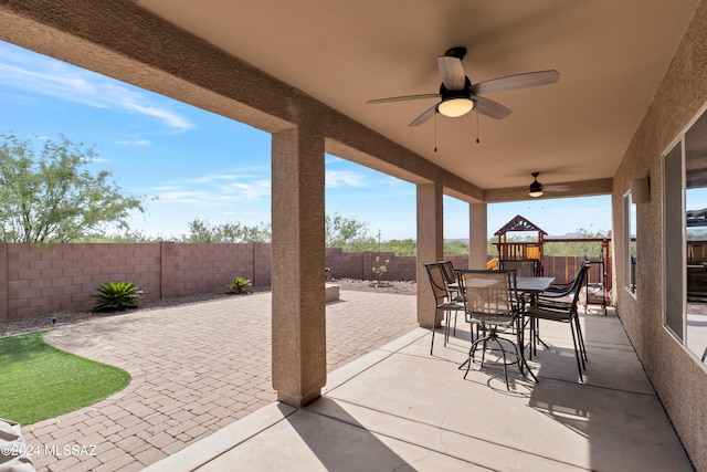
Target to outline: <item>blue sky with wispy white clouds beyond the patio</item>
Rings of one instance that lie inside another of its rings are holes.
[[[0,42],[0,133],[95,146],[134,196],[157,197],[130,225],[152,237],[197,218],[270,221],[270,135],[190,105]],[[368,223],[383,240],[415,238],[415,187],[326,156],[326,211]],[[444,199],[447,239],[468,237],[468,204]],[[611,229],[609,196],[488,206],[488,232],[523,214],[550,234]]]

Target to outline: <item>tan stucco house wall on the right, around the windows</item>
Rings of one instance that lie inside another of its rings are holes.
[[[663,327],[662,154],[707,102],[707,3],[698,7],[614,176],[618,312],[697,470],[707,470],[707,370]],[[623,195],[650,176],[651,201],[636,206],[637,296],[623,290]]]

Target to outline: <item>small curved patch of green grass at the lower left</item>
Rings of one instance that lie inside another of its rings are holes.
[[[0,338],[0,418],[31,424],[93,405],[130,381],[123,369],[48,345],[46,333]]]

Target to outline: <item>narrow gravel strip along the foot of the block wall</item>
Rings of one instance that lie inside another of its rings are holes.
[[[394,293],[401,295],[415,295],[418,293],[418,284],[415,282],[402,282],[390,281],[384,282],[386,286],[377,287],[373,281],[360,281],[351,279],[333,280],[331,283],[339,285],[340,290],[354,290],[361,292],[379,292],[379,293]],[[247,293],[268,292],[270,286],[252,286],[247,289]],[[226,293],[207,293],[199,295],[186,295],[175,298],[162,298],[150,302],[144,302],[138,310],[158,310],[169,306],[186,305],[192,303],[207,302],[211,300],[224,298],[226,296],[234,296]],[[120,316],[126,312],[113,312],[113,313],[92,313],[87,311],[75,312],[56,312],[48,313],[36,316],[29,316],[17,321],[0,322],[0,337],[14,336],[22,333],[31,333],[40,329],[49,329],[52,327],[52,319],[56,324],[66,323],[80,323],[86,319],[92,319],[101,316]]]

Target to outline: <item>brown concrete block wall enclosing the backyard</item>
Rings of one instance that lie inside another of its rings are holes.
[[[326,250],[334,279],[376,280],[378,252]],[[389,260],[386,280],[414,281],[416,258],[381,252]],[[458,269],[466,255],[449,255]],[[564,259],[564,258],[560,258]],[[572,264],[573,265],[573,264]],[[547,266],[547,262],[546,262]],[[570,279],[576,273],[562,264]],[[253,285],[271,283],[270,243],[68,243],[40,247],[0,242],[0,321],[62,311],[89,310],[104,282],[130,281],[143,300],[223,293],[235,276]],[[315,274],[324,281],[321,274]],[[558,281],[562,274],[556,275]]]

